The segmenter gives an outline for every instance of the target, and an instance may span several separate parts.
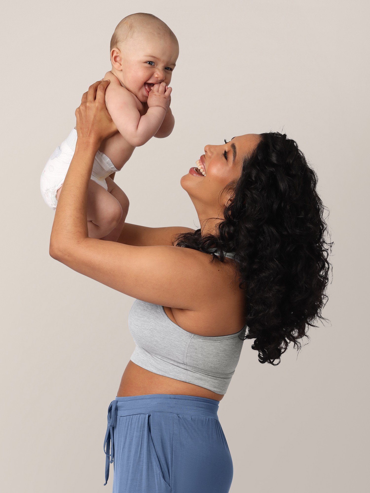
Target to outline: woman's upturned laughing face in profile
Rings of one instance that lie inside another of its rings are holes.
[[[224,207],[230,197],[227,190],[224,192],[225,187],[231,184],[233,188],[241,175],[244,157],[255,149],[258,142],[258,134],[247,134],[233,137],[226,144],[204,147],[199,164],[195,163],[181,178],[181,186],[189,194],[198,214],[215,217],[212,215],[215,208],[219,211],[220,206]]]

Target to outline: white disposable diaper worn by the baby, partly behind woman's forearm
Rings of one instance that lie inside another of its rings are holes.
[[[76,148],[76,141],[77,131],[73,129],[67,139],[58,145],[49,157],[41,173],[41,195],[46,204],[54,211],[58,203],[57,191],[63,185],[64,178],[67,175]],[[106,178],[116,171],[118,170],[114,167],[109,157],[98,151],[94,159],[91,179],[108,190]]]

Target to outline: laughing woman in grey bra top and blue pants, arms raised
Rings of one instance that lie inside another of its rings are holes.
[[[235,137],[207,145],[203,173],[182,178],[200,230],[125,224],[117,243],[88,238],[94,156],[116,131],[108,83],[93,84],[76,110],[50,239],[53,258],[137,298],[137,347],[109,408],[106,482],[114,458],[115,493],[226,493],[232,461],[217,409],[243,340],[278,364],[321,318],[330,245],[317,178],[286,136]]]

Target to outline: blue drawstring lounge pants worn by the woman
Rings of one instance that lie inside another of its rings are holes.
[[[191,395],[116,397],[104,442],[113,493],[228,493],[232,460],[219,401]]]

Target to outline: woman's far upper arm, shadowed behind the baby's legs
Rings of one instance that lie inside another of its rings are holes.
[[[167,228],[148,228],[125,223],[118,243],[133,246],[171,246],[177,235],[194,231],[190,228],[172,226]]]

